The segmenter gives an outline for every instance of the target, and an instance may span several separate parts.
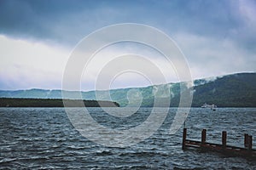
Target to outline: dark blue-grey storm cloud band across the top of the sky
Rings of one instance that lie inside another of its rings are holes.
[[[155,26],[172,36],[185,31],[231,37],[244,25],[230,1],[13,1],[0,5],[0,33],[13,37],[78,42],[91,31],[122,22]],[[241,38],[238,35],[238,39]],[[242,37],[252,41],[250,36]]]

